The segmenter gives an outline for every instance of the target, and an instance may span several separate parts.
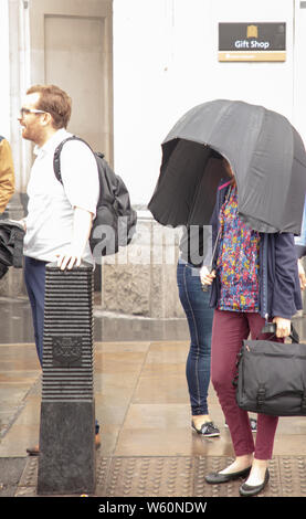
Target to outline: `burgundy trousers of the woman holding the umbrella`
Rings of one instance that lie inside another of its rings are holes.
[[[258,414],[254,443],[249,414],[238,406],[232,381],[243,339],[250,333],[252,339],[271,338],[271,333],[261,333],[264,324],[260,314],[214,310],[211,343],[211,381],[230,428],[235,455],[254,453],[257,459],[272,457],[278,417]],[[273,340],[283,342],[283,339]]]

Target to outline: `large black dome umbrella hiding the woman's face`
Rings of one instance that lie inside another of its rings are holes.
[[[148,205],[159,223],[210,223],[218,184],[226,178],[218,153],[234,171],[239,213],[252,229],[300,233],[306,192],[300,136],[281,114],[223,99],[189,110],[162,142],[160,176]]]

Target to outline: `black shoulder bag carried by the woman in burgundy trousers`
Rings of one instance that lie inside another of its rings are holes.
[[[262,332],[271,333],[273,339],[276,325],[266,321]],[[243,341],[233,384],[238,405],[244,411],[306,416],[306,345],[299,342],[293,326],[289,337],[292,343],[264,339]]]

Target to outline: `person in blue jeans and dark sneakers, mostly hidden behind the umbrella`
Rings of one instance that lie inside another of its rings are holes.
[[[179,297],[190,331],[190,350],[186,364],[191,404],[191,427],[205,437],[220,436],[219,428],[213,424],[208,410],[208,388],[210,383],[210,345],[213,309],[209,307],[210,290],[203,292],[200,282],[202,262],[199,252],[203,248],[203,229],[184,230],[180,243],[180,258],[177,267]],[[208,242],[208,241],[207,241]],[[194,243],[197,255],[190,253]],[[196,256],[196,257],[194,257]],[[192,257],[192,263],[191,263]]]

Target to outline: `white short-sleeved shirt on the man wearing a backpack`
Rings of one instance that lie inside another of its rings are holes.
[[[74,208],[96,214],[99,180],[96,159],[91,149],[80,140],[68,141],[61,151],[63,184],[56,179],[53,157],[56,147],[72,134],[57,130],[36,155],[28,183],[25,256],[55,262],[56,254],[66,251],[73,236]],[[87,242],[83,260],[93,263]]]

